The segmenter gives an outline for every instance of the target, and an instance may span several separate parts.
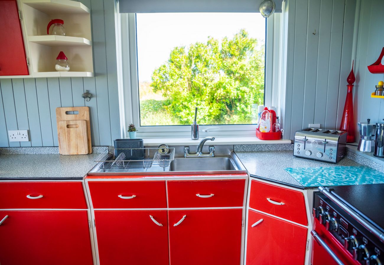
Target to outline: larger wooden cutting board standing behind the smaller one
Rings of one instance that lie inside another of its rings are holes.
[[[74,111],[77,111],[78,113],[72,114]],[[56,122],[57,122],[57,132],[58,132],[58,139],[59,139],[59,152],[60,154],[63,154],[61,152],[62,143],[59,135],[61,121],[85,121],[86,122],[86,138],[87,138],[88,150],[84,154],[91,154],[92,142],[91,142],[91,123],[89,121],[89,107],[56,108]],[[76,134],[76,135],[79,135],[79,134]],[[76,139],[76,141],[78,140]],[[77,150],[74,152],[77,152]]]

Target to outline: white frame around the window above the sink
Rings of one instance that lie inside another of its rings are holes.
[[[265,42],[265,89],[264,104],[272,104],[272,83],[275,60],[278,57],[279,44],[274,32],[274,17],[266,19]],[[128,137],[128,124],[133,123],[138,130],[137,137],[189,137],[190,125],[140,126],[139,84],[137,69],[136,14],[121,13],[118,18],[118,61],[120,62],[121,79],[119,85],[121,136]],[[191,119],[192,124],[192,119]],[[255,136],[257,124],[220,124],[200,125],[200,137],[205,136]],[[203,131],[207,130],[207,131]]]

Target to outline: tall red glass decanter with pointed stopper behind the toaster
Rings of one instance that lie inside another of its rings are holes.
[[[353,116],[353,83],[355,82],[355,75],[353,73],[353,61],[352,61],[352,69],[347,77],[347,97],[345,99],[343,118],[341,119],[340,131],[346,131],[347,134],[347,142],[355,142],[355,123]]]

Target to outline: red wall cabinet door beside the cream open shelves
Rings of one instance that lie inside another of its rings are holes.
[[[0,0],[0,75],[28,75],[16,0]]]

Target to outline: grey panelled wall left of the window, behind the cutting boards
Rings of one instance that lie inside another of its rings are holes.
[[[0,147],[58,146],[57,107],[89,106],[93,146],[120,137],[113,0],[81,0],[91,9],[95,77],[0,79]],[[94,97],[81,98],[84,90]],[[8,142],[8,130],[29,129],[30,142]]]

